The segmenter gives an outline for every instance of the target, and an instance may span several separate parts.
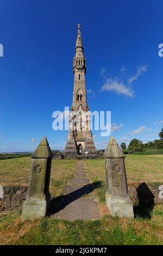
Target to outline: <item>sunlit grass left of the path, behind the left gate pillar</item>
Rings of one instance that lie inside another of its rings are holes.
[[[29,181],[30,157],[1,160],[0,184],[6,187],[26,187]],[[75,160],[52,160],[50,191],[58,197],[72,177]]]

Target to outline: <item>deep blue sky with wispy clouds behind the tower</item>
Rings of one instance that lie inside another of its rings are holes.
[[[163,1],[1,0],[1,152],[31,151],[43,135],[52,149],[64,149],[68,131],[53,131],[52,113],[72,105],[78,22],[91,111],[111,111],[119,143],[158,138]],[[109,137],[93,135],[105,148]]]

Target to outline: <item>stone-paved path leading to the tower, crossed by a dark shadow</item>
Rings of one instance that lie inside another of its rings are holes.
[[[51,218],[62,220],[98,220],[100,218],[98,200],[93,193],[93,186],[87,177],[84,161],[77,160],[74,178],[68,181],[64,198]]]

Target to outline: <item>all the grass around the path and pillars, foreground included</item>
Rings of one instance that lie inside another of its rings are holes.
[[[127,155],[128,183],[163,184],[163,156]],[[61,196],[71,178],[75,160],[52,161],[50,192]],[[30,157],[0,161],[0,184],[27,186]],[[92,182],[102,186],[95,189],[98,200],[104,203],[104,160],[85,160]],[[21,209],[0,213],[1,245],[163,245],[163,206],[155,206],[150,218],[135,220],[112,218],[106,211],[98,221],[61,221],[41,218],[21,222]]]

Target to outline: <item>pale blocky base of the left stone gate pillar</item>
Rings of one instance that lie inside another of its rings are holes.
[[[21,220],[34,220],[36,218],[45,217],[50,204],[48,199],[27,198],[23,203]]]

